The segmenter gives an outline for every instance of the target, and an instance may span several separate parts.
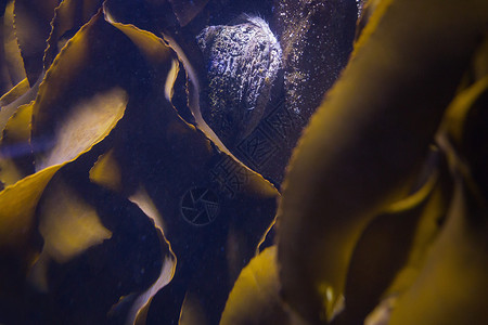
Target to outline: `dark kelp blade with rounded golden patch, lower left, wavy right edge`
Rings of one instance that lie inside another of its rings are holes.
[[[162,266],[154,223],[134,204],[80,177],[88,172],[86,158],[56,173],[38,208],[47,244],[24,289],[24,310],[40,324],[123,324],[130,308],[126,297],[146,290]],[[57,206],[50,204],[56,199]]]

